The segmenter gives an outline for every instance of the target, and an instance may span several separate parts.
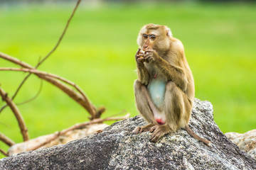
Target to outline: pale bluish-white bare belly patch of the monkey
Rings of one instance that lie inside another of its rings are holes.
[[[151,79],[148,85],[149,94],[154,104],[161,108],[164,106],[164,94],[166,91],[165,79]]]

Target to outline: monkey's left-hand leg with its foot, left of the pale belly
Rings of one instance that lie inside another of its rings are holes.
[[[141,132],[149,131],[152,126],[156,125],[153,113],[154,111],[156,112],[156,106],[152,107],[154,104],[151,101],[149,92],[147,91],[146,86],[140,83],[139,80],[135,80],[134,82],[134,93],[137,108],[144,119],[149,123],[149,125],[144,127],[135,128],[133,133],[139,134]]]

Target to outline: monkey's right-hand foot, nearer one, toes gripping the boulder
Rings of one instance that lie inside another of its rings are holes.
[[[154,125],[149,132],[153,132],[150,137],[150,142],[157,142],[160,137],[171,132],[171,128],[168,125]]]

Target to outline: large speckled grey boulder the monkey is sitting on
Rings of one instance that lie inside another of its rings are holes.
[[[23,152],[0,160],[0,169],[256,169],[256,161],[228,140],[213,120],[213,107],[196,99],[191,129],[208,147],[178,130],[149,142],[150,132],[132,135],[146,122],[128,118],[66,145]]]

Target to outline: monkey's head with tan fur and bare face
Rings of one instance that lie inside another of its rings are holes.
[[[169,34],[170,29],[166,26],[158,26],[148,24],[139,32],[137,43],[142,51],[156,50],[156,52],[163,52],[169,49]]]

